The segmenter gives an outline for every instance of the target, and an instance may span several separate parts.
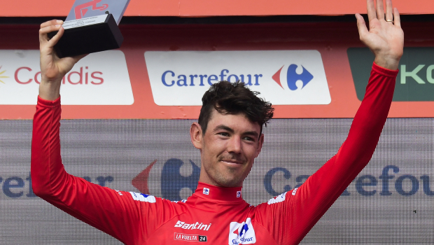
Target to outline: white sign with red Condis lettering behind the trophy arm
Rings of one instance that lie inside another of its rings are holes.
[[[39,50],[0,50],[0,104],[36,104],[41,83]],[[134,102],[120,50],[83,58],[62,80],[62,104],[130,105]]]

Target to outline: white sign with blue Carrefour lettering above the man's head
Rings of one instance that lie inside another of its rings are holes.
[[[145,59],[160,106],[200,106],[204,92],[220,80],[240,80],[274,105],[331,102],[316,50],[149,51]]]

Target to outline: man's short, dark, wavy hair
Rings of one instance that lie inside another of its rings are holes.
[[[202,134],[207,131],[212,109],[222,114],[242,113],[251,122],[258,123],[262,133],[262,125],[267,125],[268,120],[273,117],[274,108],[271,103],[259,98],[258,94],[260,92],[251,91],[240,81],[230,83],[223,80],[211,85],[202,97],[202,109],[198,121],[202,127]]]

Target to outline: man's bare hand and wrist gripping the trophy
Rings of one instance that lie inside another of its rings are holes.
[[[71,71],[74,64],[85,55],[77,57],[64,57],[59,59],[54,50],[54,45],[64,34],[62,20],[50,20],[41,24],[39,29],[39,49],[41,51],[41,84],[39,85],[39,97],[47,100],[55,100],[59,97],[62,78]],[[58,31],[51,39],[48,33]]]

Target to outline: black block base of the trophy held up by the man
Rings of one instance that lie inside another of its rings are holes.
[[[113,15],[102,15],[99,18],[104,18],[104,16],[106,16],[106,19],[103,19],[102,22],[92,23],[92,21],[88,21],[88,23],[91,23],[88,25],[81,21],[78,25],[75,24],[76,27],[65,27],[62,38],[54,46],[57,56],[59,58],[73,57],[120,48],[124,38],[119,27]],[[78,22],[79,20],[73,21]],[[64,26],[66,23],[64,22]],[[48,37],[52,38],[55,34],[57,34],[57,31],[52,31],[48,34]]]

